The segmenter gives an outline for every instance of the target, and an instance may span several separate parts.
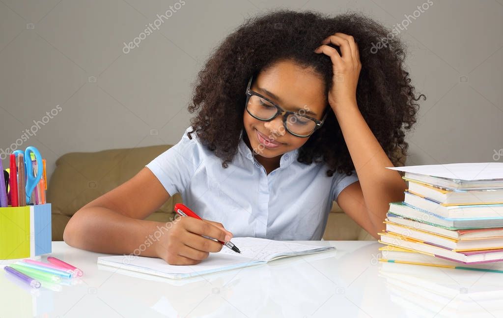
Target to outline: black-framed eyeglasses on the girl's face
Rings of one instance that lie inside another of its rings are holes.
[[[309,137],[317,129],[321,128],[323,122],[328,115],[328,110],[325,111],[323,118],[317,120],[316,118],[309,117],[305,115],[307,112],[307,106],[304,109],[300,109],[296,112],[286,111],[279,107],[276,103],[254,92],[250,89],[251,82],[253,81],[254,75],[251,75],[248,81],[248,87],[246,88],[246,111],[251,117],[261,121],[272,121],[278,115],[283,116],[283,126],[286,131],[297,137]]]

